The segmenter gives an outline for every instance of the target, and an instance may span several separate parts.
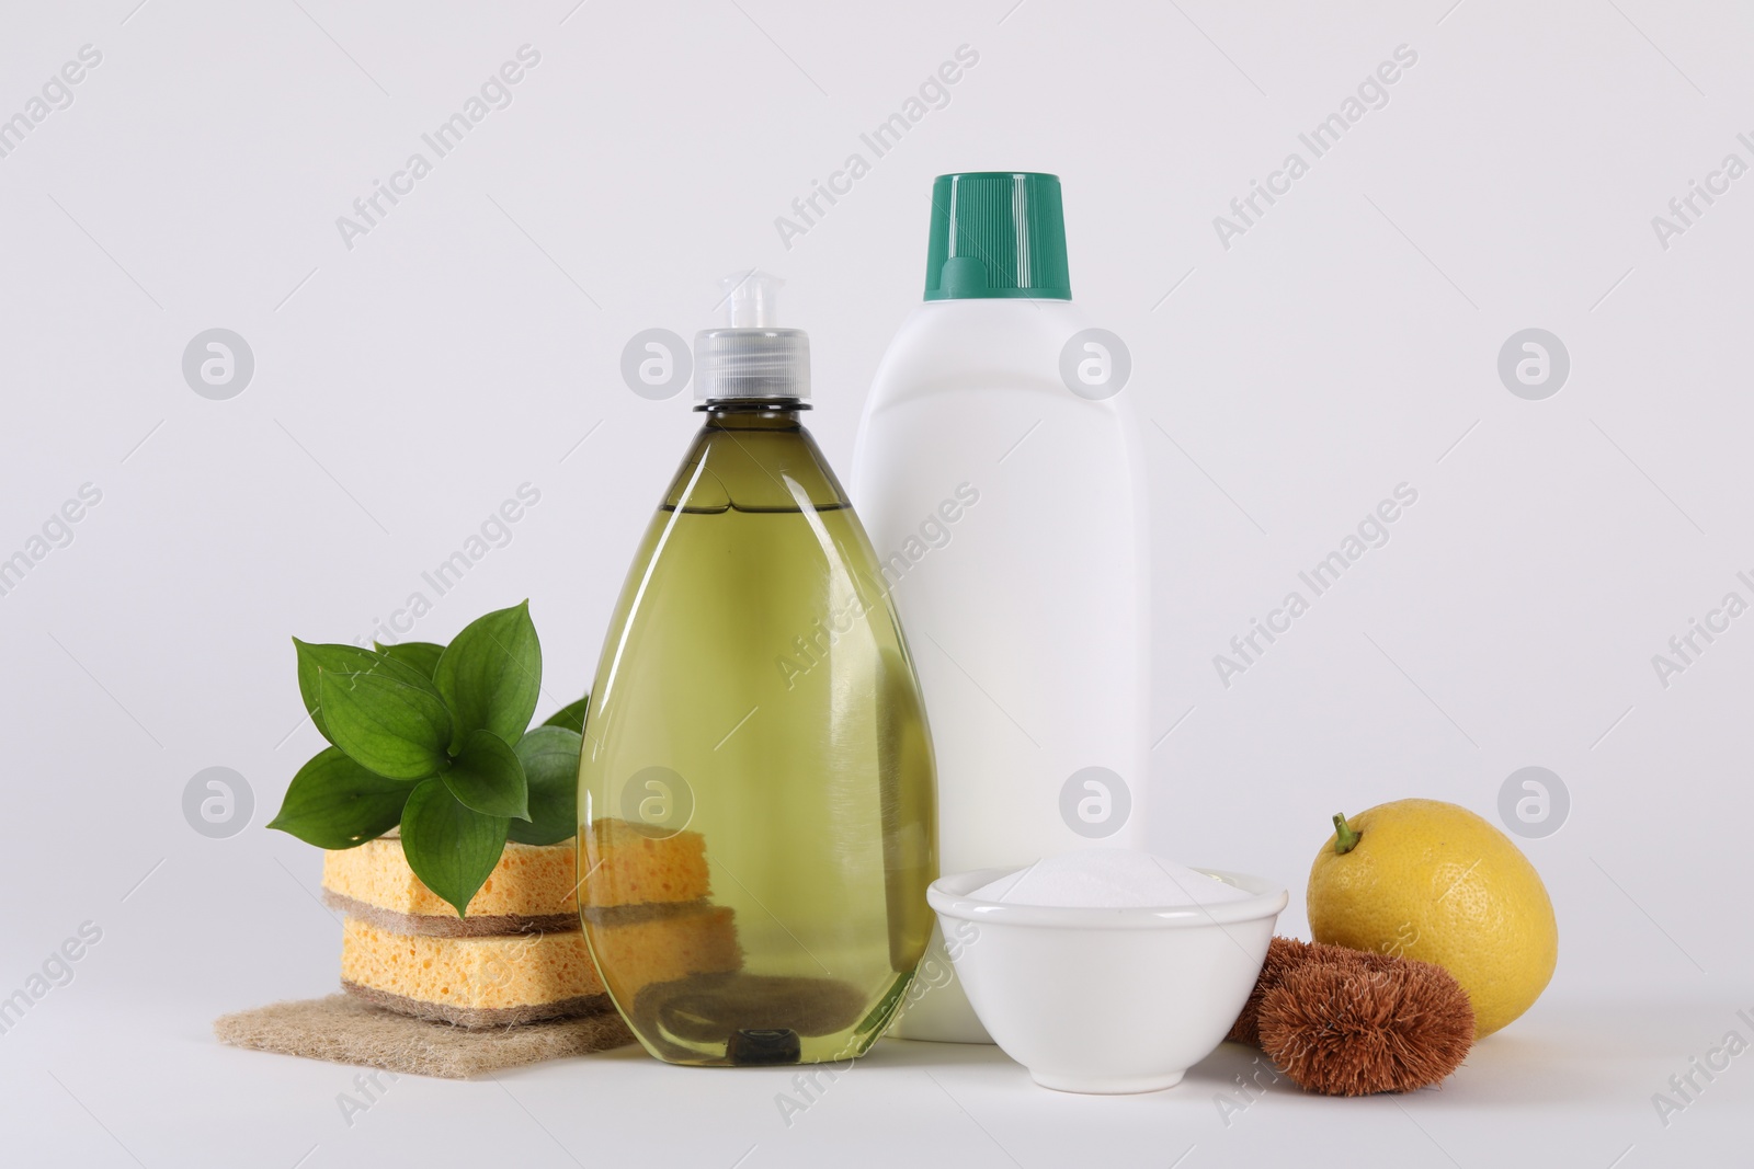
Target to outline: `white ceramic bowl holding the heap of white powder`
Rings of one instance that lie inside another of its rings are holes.
[[[970,894],[1016,869],[931,883],[956,978],[1005,1055],[1061,1092],[1158,1092],[1212,1053],[1254,988],[1286,890],[1198,869],[1247,899],[1072,910]]]

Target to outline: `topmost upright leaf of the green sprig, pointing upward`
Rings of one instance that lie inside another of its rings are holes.
[[[516,743],[542,689],[542,647],[530,601],[468,622],[438,657],[433,684],[456,715],[458,741],[470,731],[493,731]]]

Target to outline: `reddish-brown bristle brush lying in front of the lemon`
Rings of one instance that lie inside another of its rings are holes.
[[[1412,1092],[1461,1067],[1473,1006],[1442,966],[1273,938],[1230,1038],[1310,1092]]]

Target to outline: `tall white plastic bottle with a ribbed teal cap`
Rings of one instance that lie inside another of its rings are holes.
[[[1070,296],[1059,179],[937,179],[926,301],[877,370],[852,501],[919,670],[942,873],[1145,847],[1144,456],[1126,351]],[[944,945],[893,1034],[989,1043]]]

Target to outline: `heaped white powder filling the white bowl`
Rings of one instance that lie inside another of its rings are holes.
[[[1135,910],[1242,901],[1254,894],[1135,848],[1079,848],[977,889],[980,901],[1075,910]]]

